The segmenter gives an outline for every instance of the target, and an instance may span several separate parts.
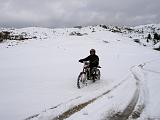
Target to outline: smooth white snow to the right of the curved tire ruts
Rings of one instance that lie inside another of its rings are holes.
[[[145,65],[143,68],[145,74],[145,82],[147,83],[148,88],[148,99],[146,110],[144,111],[143,116],[150,116],[150,118],[159,118],[160,119],[160,96],[158,91],[160,90],[160,68],[159,68],[159,60],[154,60]]]

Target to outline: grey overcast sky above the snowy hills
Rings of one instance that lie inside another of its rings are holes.
[[[160,23],[160,0],[0,0],[0,27]]]

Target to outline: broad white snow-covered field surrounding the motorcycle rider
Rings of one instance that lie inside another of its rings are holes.
[[[160,52],[94,30],[24,28],[16,32],[37,38],[0,43],[0,119],[52,120],[90,100],[67,120],[114,119],[126,111],[128,119],[160,119]],[[91,48],[100,57],[101,80],[78,89],[78,60]]]

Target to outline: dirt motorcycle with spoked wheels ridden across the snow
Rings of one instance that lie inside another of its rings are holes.
[[[92,80],[95,82],[96,80],[100,80],[101,74],[98,67],[93,67],[92,70],[90,70],[89,62],[84,61],[84,66],[82,72],[80,72],[78,79],[77,79],[77,87],[80,89],[84,86],[87,86],[88,80]]]

